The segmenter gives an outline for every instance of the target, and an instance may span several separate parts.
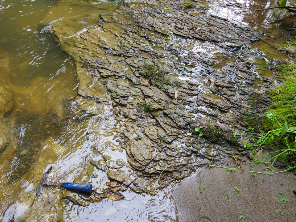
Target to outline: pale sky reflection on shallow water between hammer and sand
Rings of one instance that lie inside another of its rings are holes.
[[[175,201],[165,192],[152,200],[149,195],[125,192],[125,199],[119,202],[103,200],[88,207],[68,204],[71,212],[66,221],[175,221],[178,222]],[[145,209],[145,210],[144,210]]]

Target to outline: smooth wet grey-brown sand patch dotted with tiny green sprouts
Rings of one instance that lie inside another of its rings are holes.
[[[253,171],[264,172],[257,164]],[[204,168],[174,188],[180,222],[206,221],[296,221],[296,175],[255,173],[243,162],[235,173],[223,168]],[[275,169],[281,171],[281,169]],[[200,188],[199,187],[203,187]],[[237,187],[240,192],[235,195]],[[289,199],[280,203],[281,199]]]

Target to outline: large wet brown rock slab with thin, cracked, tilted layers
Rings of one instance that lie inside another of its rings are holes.
[[[249,96],[262,95],[275,83],[272,73],[266,75],[272,58],[252,45],[277,36],[212,14],[206,10],[211,2],[193,2],[195,7],[185,10],[183,1],[125,0],[74,36],[62,23],[53,23],[55,39],[76,62],[77,101],[85,109],[94,103],[98,109],[109,107],[116,121],[109,133],[118,142],[116,147],[94,145],[95,157],[76,181],[95,180],[104,172],[108,188],[90,196],[64,193],[65,199],[86,206],[128,187],[152,194],[156,186],[166,187],[194,171],[172,164],[249,153],[239,139],[198,137],[193,129],[213,127],[213,133],[227,138],[247,129],[243,117],[254,109]],[[229,7],[242,10],[244,5]],[[147,64],[163,70],[165,78],[143,77]],[[114,158],[107,148],[126,152],[127,161]]]

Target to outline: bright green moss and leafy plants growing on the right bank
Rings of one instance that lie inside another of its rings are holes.
[[[296,41],[295,41],[296,43]],[[266,121],[259,129],[257,141],[252,144],[256,154],[262,146],[276,148],[256,159],[256,162],[270,164],[267,171],[273,171],[275,161],[289,161],[292,169],[296,167],[296,64],[279,64],[280,73],[277,78],[283,83],[271,89],[268,94],[273,101],[265,113]],[[250,144],[246,143],[245,147]]]

